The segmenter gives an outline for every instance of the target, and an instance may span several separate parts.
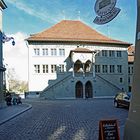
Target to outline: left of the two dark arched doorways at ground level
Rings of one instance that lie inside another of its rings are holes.
[[[83,84],[80,81],[76,83],[75,94],[76,98],[83,98]]]

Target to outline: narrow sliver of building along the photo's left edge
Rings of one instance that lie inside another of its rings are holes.
[[[4,93],[3,93],[3,77],[4,71],[6,70],[3,66],[3,45],[2,45],[2,12],[7,6],[3,0],[0,0],[0,108],[4,105]]]

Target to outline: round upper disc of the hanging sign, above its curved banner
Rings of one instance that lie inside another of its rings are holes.
[[[99,16],[107,15],[115,7],[117,0],[97,0],[95,3],[95,12]]]

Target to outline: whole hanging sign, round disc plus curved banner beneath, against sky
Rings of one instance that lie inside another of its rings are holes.
[[[121,11],[115,7],[116,1],[117,0],[97,0],[94,7],[97,16],[93,22],[101,25],[113,20]]]

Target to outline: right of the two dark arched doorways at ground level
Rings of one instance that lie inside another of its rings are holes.
[[[85,97],[86,98],[92,98],[93,93],[92,93],[92,84],[90,81],[86,82],[85,84]]]

